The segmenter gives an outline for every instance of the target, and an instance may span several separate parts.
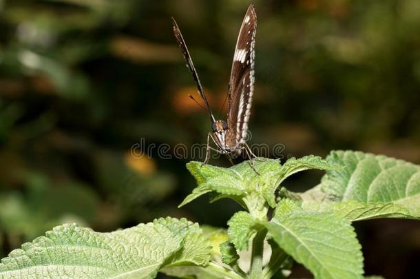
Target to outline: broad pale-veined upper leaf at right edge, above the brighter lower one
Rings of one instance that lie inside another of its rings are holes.
[[[367,205],[393,203],[408,209],[410,216],[420,216],[419,165],[353,151],[331,152],[327,158],[346,167],[328,171],[322,178],[322,192],[335,201],[356,200]],[[396,214],[401,207],[398,209]]]

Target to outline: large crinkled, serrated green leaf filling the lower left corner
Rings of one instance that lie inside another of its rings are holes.
[[[200,228],[185,219],[160,218],[112,233],[67,224],[3,258],[0,277],[154,278],[167,263],[207,265],[209,258]]]

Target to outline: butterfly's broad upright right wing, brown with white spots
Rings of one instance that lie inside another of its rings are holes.
[[[231,132],[231,145],[244,143],[254,89],[255,32],[257,16],[253,5],[246,11],[236,42],[229,79],[229,112],[227,125]]]

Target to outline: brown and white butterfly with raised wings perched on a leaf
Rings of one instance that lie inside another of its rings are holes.
[[[231,76],[228,87],[228,113],[227,121],[216,120],[211,111],[209,101],[204,94],[200,79],[196,68],[194,67],[191,55],[189,54],[187,45],[182,37],[180,29],[175,19],[172,18],[174,25],[174,35],[180,45],[182,54],[187,61],[187,67],[196,81],[198,94],[204,101],[211,121],[211,132],[207,135],[207,152],[204,164],[209,161],[210,149],[209,139],[217,145],[218,149],[213,149],[221,154],[227,154],[229,160],[231,157],[238,156],[242,150],[251,158],[256,157],[246,144],[246,134],[248,132],[248,121],[251,116],[251,105],[254,91],[254,61],[255,61],[255,32],[257,28],[257,16],[253,5],[246,10],[244,20],[240,28],[238,40],[236,41],[235,52],[233,54],[233,62]],[[192,97],[191,97],[192,98]]]

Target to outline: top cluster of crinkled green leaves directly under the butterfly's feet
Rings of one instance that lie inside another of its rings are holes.
[[[246,205],[242,198],[253,193],[257,194],[262,203],[266,200],[271,207],[275,207],[275,190],[288,176],[305,169],[339,168],[317,156],[291,158],[284,165],[279,160],[266,158],[253,160],[252,164],[258,174],[251,167],[250,161],[229,168],[202,165],[200,162],[188,163],[187,169],[196,178],[198,187],[182,201],[180,207],[209,192],[216,193],[213,200],[233,198],[244,207]]]

